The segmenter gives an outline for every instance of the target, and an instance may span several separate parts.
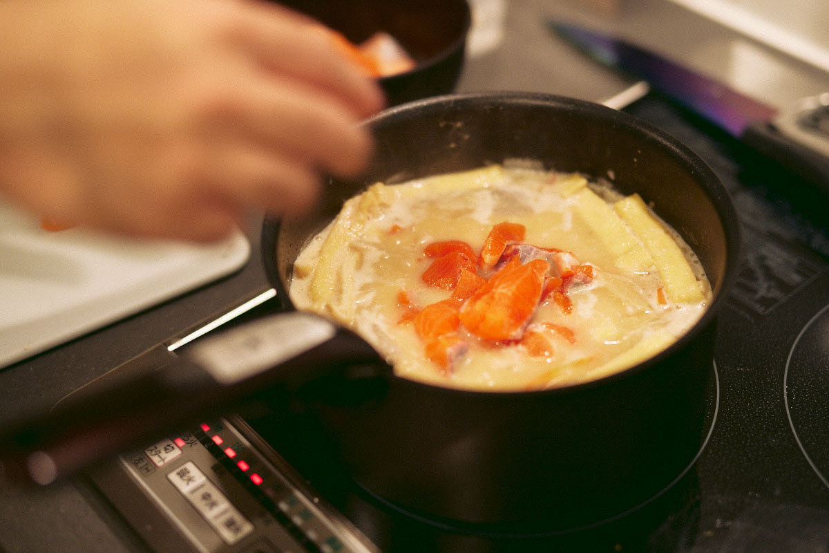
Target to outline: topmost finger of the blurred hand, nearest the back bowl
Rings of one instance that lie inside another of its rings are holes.
[[[285,17],[286,13],[292,15]],[[270,70],[316,86],[357,118],[382,109],[385,99],[376,81],[342,56],[318,24],[264,2],[250,4],[245,22],[248,28],[240,40]]]

